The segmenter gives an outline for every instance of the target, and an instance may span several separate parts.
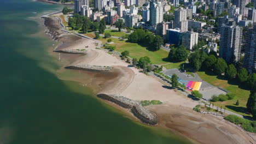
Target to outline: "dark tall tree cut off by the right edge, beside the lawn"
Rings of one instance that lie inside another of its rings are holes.
[[[256,119],[256,82],[253,85],[246,107],[248,112],[252,113],[253,118]]]

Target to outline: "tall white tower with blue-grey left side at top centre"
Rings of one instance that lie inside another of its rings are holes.
[[[150,1],[149,15],[151,26],[156,26],[162,22],[164,17],[162,3]]]

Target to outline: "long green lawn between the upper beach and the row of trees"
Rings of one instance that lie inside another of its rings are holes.
[[[131,58],[141,58],[144,56],[148,56],[153,64],[165,64],[168,62],[165,62],[163,58],[166,58],[168,56],[168,52],[165,50],[158,50],[158,51],[149,51],[147,50],[147,47],[138,45],[137,43],[129,43],[126,42],[125,40],[121,39],[115,39],[111,38],[114,44],[116,46],[115,51],[118,52],[123,52],[123,51],[129,51],[130,52],[130,57]],[[98,40],[102,41],[102,44],[107,43],[107,39],[100,38]]]

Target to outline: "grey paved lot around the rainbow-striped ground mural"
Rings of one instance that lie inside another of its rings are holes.
[[[226,94],[225,91],[222,89],[219,89],[218,87],[212,86],[210,83],[207,83],[206,81],[202,80],[196,73],[193,76],[189,76],[187,73],[181,73],[178,69],[167,69],[162,71],[165,75],[173,75],[176,74],[179,79],[179,82],[184,83],[186,86],[189,81],[201,81],[202,85],[199,89],[200,93],[203,94],[203,99],[210,100],[212,95],[219,95],[219,94]]]

